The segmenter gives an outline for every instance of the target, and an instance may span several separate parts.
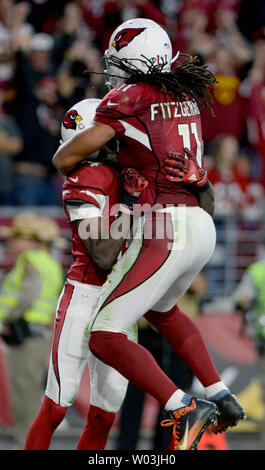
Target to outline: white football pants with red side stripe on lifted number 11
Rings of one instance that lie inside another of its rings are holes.
[[[215,243],[213,220],[200,207],[138,217],[129,248],[103,286],[91,331],[128,335],[148,310],[170,310],[209,261]]]

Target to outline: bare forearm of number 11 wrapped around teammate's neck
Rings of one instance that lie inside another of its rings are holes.
[[[89,155],[99,150],[115,137],[116,131],[107,124],[94,122],[93,127],[85,129],[60,145],[53,156],[53,165],[63,175],[69,174],[75,166]]]

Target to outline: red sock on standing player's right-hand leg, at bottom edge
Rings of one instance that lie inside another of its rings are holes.
[[[77,444],[77,450],[104,450],[115,413],[90,405],[87,424]]]

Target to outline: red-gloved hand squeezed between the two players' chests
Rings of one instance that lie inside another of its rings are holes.
[[[130,210],[137,202],[138,197],[148,186],[147,179],[135,168],[124,168],[121,172],[121,183],[123,187],[122,205]]]

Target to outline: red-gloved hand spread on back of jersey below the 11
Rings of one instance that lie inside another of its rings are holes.
[[[194,153],[184,148],[184,156],[169,152],[165,161],[166,178],[174,183],[195,184],[199,188],[207,184],[207,171],[198,165]]]

